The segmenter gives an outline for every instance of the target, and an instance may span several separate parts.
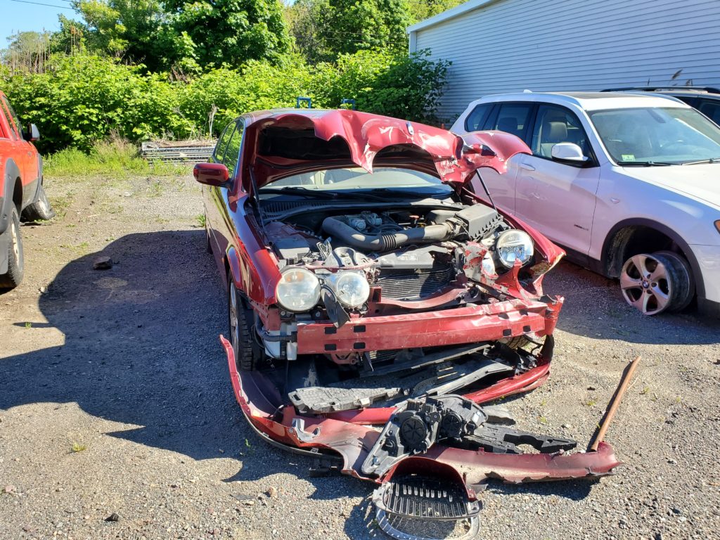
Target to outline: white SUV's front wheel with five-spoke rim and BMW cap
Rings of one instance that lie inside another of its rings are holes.
[[[620,272],[620,289],[625,301],[643,315],[683,310],[695,294],[690,265],[672,251],[629,258]]]

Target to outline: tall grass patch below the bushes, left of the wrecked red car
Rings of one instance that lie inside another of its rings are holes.
[[[154,161],[148,163],[138,147],[125,139],[111,136],[93,145],[89,153],[77,148],[65,148],[45,157],[45,174],[48,176],[86,178],[110,176],[122,179],[139,174],[181,176],[189,174],[190,166]]]

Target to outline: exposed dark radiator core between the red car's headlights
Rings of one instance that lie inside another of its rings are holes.
[[[377,283],[382,297],[392,300],[422,300],[452,282],[455,274],[450,265],[422,270],[382,269]]]

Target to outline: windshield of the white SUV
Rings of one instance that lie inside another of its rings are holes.
[[[644,107],[588,114],[618,165],[720,161],[720,127],[696,109]]]

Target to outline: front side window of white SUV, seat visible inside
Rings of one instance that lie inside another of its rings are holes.
[[[590,156],[588,136],[575,113],[558,105],[540,105],[530,145],[533,155],[551,158],[557,143],[576,144],[584,156]]]

